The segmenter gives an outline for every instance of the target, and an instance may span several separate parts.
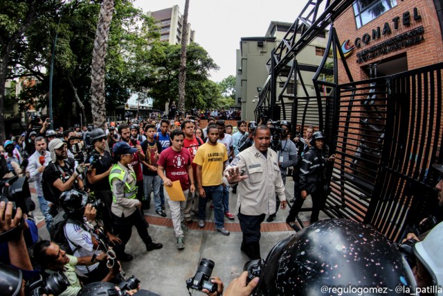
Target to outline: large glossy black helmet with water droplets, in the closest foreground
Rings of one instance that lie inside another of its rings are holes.
[[[337,295],[325,287],[386,287],[394,291],[397,286],[415,290],[415,279],[394,243],[371,226],[330,219],[275,245],[253,295]],[[405,290],[397,294],[409,295]],[[359,295],[381,293],[362,290]]]

